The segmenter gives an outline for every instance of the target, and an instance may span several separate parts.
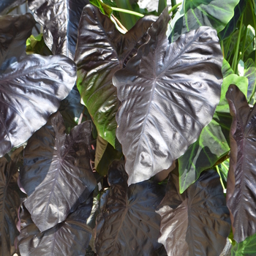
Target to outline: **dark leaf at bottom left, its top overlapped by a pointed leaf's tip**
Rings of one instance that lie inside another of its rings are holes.
[[[92,206],[92,197],[69,214],[64,222],[40,232],[23,206],[20,213],[21,230],[18,246],[21,256],[81,256],[91,240],[91,228],[86,225]]]

